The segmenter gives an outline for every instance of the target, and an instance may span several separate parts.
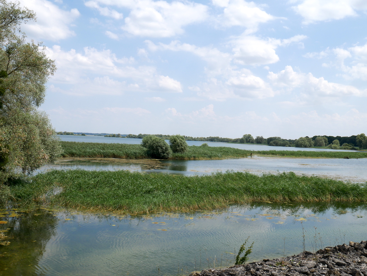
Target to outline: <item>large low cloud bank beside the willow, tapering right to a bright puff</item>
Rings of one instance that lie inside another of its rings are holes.
[[[179,81],[159,75],[152,66],[135,67],[133,58],[117,58],[110,50],[85,47],[84,53],[77,53],[54,46],[45,52],[59,68],[50,80],[51,92],[76,95],[182,92]]]

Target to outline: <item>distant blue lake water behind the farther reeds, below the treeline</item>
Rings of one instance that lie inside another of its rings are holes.
[[[142,139],[138,138],[116,138],[104,136],[81,136],[81,135],[57,135],[62,141],[73,142],[90,142],[90,143],[120,143],[120,144],[140,144]],[[168,143],[168,140],[166,140]],[[186,141],[189,146],[200,146],[207,143],[210,147],[231,147],[240,148],[242,150],[304,150],[304,151],[355,151],[355,150],[333,150],[329,148],[296,148],[296,147],[273,147],[258,144],[235,144],[222,142],[203,142],[203,141]]]

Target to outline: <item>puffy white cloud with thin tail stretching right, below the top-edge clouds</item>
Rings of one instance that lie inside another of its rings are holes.
[[[233,46],[235,61],[243,65],[272,64],[279,61],[275,49],[279,46],[288,46],[306,39],[305,35],[296,35],[289,39],[260,39],[256,36],[241,35],[229,43]]]

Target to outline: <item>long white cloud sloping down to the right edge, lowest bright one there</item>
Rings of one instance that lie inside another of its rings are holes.
[[[298,89],[305,95],[319,97],[367,96],[367,90],[359,90],[354,86],[328,82],[323,77],[316,78],[311,73],[294,72],[291,66],[279,73],[269,72],[268,79],[274,86],[287,90]]]

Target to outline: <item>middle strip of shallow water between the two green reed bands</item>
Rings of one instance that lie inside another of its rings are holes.
[[[367,158],[287,158],[253,156],[223,160],[149,160],[118,158],[61,158],[56,164],[45,165],[36,173],[50,169],[128,170],[183,175],[240,171],[263,173],[295,172],[298,175],[318,175],[344,181],[367,181]]]

